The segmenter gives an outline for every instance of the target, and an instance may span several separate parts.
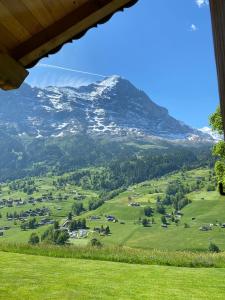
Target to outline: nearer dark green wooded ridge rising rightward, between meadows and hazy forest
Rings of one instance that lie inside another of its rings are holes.
[[[104,167],[80,169],[61,178],[61,184],[75,183],[84,189],[111,191],[160,177],[181,168],[193,168],[209,164],[204,151],[174,147],[163,152],[144,153],[129,159],[117,159]],[[207,152],[208,153],[208,152]],[[209,155],[210,156],[210,155]],[[203,160],[204,158],[204,160]]]

